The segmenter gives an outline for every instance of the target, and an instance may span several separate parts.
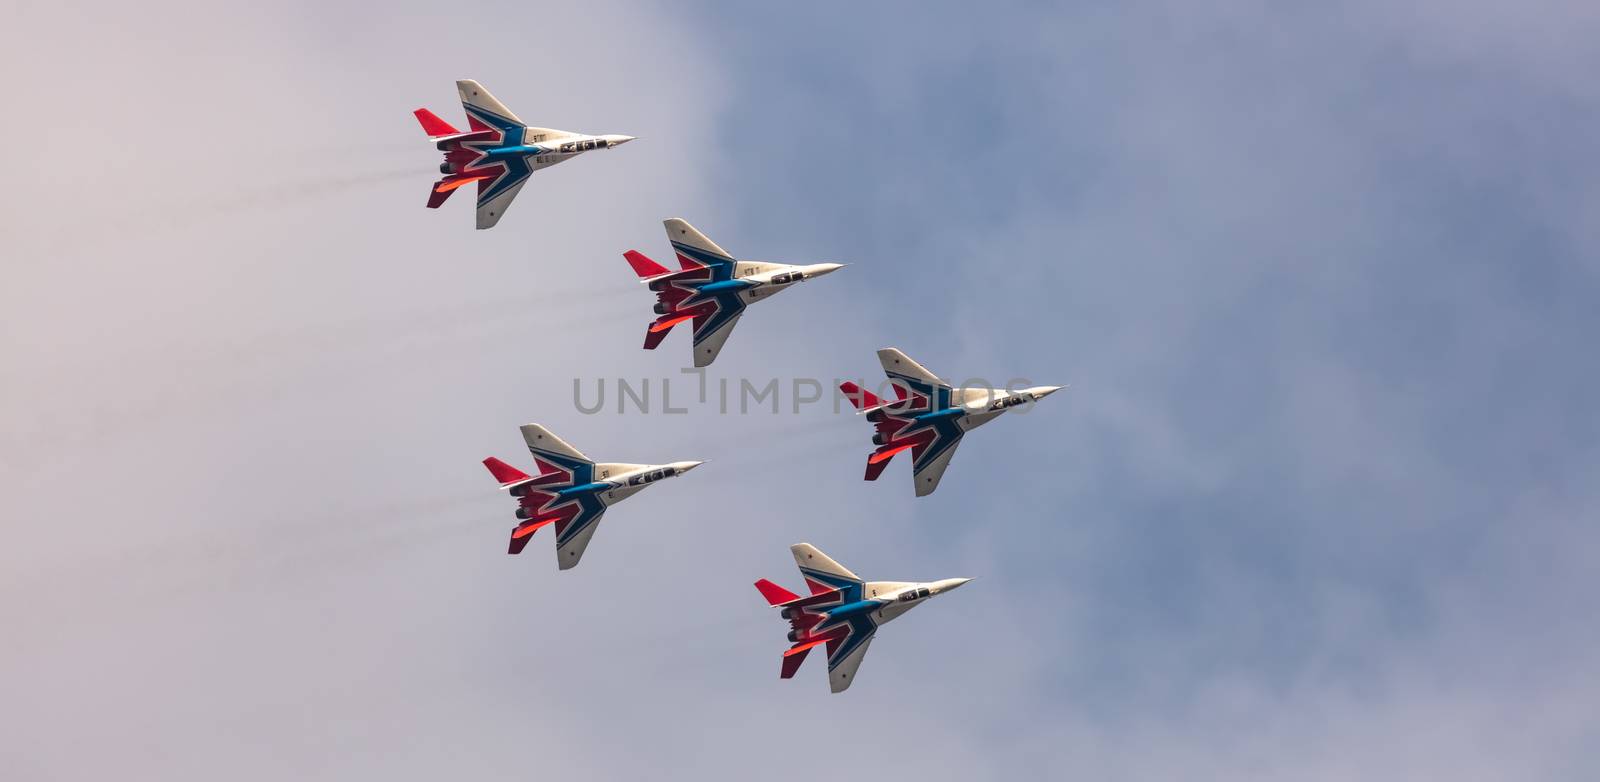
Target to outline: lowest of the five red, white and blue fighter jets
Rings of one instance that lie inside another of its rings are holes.
[[[794,552],[800,576],[811,590],[808,596],[795,595],[766,579],[755,582],[766,603],[781,608],[781,616],[789,620],[789,640],[794,646],[784,652],[784,665],[778,676],[794,676],[806,652],[826,643],[827,681],[834,692],[843,692],[856,680],[856,668],[867,656],[867,644],[872,643],[878,625],[926,603],[934,595],[973,581],[864,582],[811,544],[794,544],[789,550]]]

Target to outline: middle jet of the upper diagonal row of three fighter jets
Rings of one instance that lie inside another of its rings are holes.
[[[674,272],[637,249],[622,254],[638,281],[656,291],[654,321],[645,331],[645,350],[654,350],[672,326],[694,321],[694,366],[710,366],[723,342],[739,323],[739,315],[752,302],[762,301],[792,285],[843,269],[845,264],[763,264],[736,261],[704,233],[685,221],[666,222],[667,240],[678,256]]]

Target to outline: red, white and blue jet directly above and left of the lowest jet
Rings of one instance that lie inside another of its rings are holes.
[[[522,427],[539,475],[528,475],[496,457],[483,459],[501,489],[517,497],[517,526],[507,553],[522,553],[541,526],[555,525],[555,560],[562,569],[578,565],[606,507],[659,480],[675,478],[706,462],[616,464],[594,462],[539,424]]]

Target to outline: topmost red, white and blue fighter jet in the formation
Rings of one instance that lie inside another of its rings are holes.
[[[483,85],[456,82],[461,107],[467,110],[467,131],[461,133],[427,109],[418,109],[427,138],[445,154],[438,165],[443,179],[434,182],[427,208],[437,209],[458,187],[478,184],[478,229],[493,229],[528,182],[528,174],[571,160],[590,149],[611,149],[634,136],[587,136],[582,133],[523,125],[494,99]]]

